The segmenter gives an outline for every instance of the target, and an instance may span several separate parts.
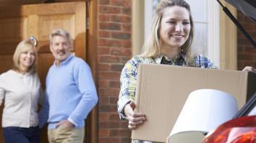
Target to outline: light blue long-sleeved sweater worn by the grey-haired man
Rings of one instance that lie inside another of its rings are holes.
[[[69,120],[76,128],[85,126],[85,119],[98,102],[90,67],[79,57],[69,55],[59,66],[48,70],[46,98],[40,111],[40,124],[48,119],[48,129],[59,121]]]

